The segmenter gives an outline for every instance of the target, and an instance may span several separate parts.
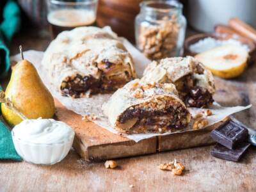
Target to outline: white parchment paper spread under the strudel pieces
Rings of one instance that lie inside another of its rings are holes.
[[[110,30],[111,32],[110,28],[105,28],[105,29],[107,31]],[[138,77],[141,77],[144,68],[147,66],[150,60],[145,58],[145,56],[143,56],[143,54],[141,54],[141,52],[138,51],[125,38],[120,38],[120,40],[122,40],[126,49],[132,54],[132,57],[134,58],[135,67],[136,67],[136,73],[138,74]],[[99,94],[99,95],[93,95],[90,98],[81,98],[81,99],[73,99],[72,97],[61,96],[60,92],[58,92],[58,90],[56,90],[56,88],[51,84],[51,81],[49,81],[50,78],[47,76],[48,74],[47,69],[43,68],[41,65],[43,55],[44,55],[44,52],[41,52],[41,51],[31,50],[31,51],[24,52],[24,58],[26,58],[26,60],[30,61],[31,63],[33,63],[33,65],[35,65],[36,69],[38,70],[38,73],[40,74],[40,77],[42,78],[42,81],[44,81],[47,88],[49,88],[53,97],[58,99],[61,102],[61,104],[63,104],[63,106],[65,106],[67,109],[70,109],[75,113],[81,115],[81,119],[83,118],[83,116],[86,116],[86,115],[90,115],[90,116],[95,115],[97,116],[97,119],[93,120],[95,124],[100,125],[100,127],[103,127],[104,129],[107,129],[110,132],[118,134],[118,132],[116,132],[115,129],[111,127],[111,125],[108,122],[108,118],[103,115],[102,109],[101,109],[102,104],[106,102],[109,99],[109,97],[111,97],[111,94]],[[20,55],[17,54],[15,56],[12,56],[11,60],[19,61]],[[225,107],[221,107],[216,102],[214,102],[213,106],[211,107],[212,115],[206,117],[207,120],[209,121],[209,124],[207,126],[215,124],[216,122],[220,122],[228,115],[232,115],[233,113],[237,113],[238,111],[248,109],[251,106],[252,105],[248,105],[245,107],[235,106],[231,108],[225,108]],[[189,112],[191,113],[192,116],[195,116],[197,113],[200,113],[205,110],[206,109],[189,108]],[[193,131],[191,129],[191,124],[182,132],[184,131]],[[138,142],[146,138],[151,138],[153,136],[166,135],[166,134],[172,134],[172,133],[123,134],[123,136]]]

